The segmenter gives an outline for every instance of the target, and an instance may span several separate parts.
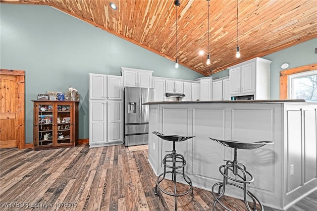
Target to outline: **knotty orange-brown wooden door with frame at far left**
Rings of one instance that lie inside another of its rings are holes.
[[[0,69],[0,104],[0,149],[24,149],[24,71]]]

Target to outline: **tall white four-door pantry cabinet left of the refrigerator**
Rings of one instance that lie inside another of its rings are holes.
[[[89,145],[122,144],[122,76],[89,73]]]

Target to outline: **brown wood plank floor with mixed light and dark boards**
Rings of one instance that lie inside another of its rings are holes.
[[[0,210],[173,211],[173,197],[154,194],[157,177],[147,156],[147,145],[0,150]],[[224,198],[232,210],[245,210],[242,201]],[[194,188],[194,197],[178,197],[178,210],[210,211],[212,203],[211,192]],[[316,205],[317,191],[289,211]]]

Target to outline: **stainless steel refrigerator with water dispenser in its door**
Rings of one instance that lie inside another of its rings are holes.
[[[124,88],[124,142],[125,146],[148,144],[149,106],[154,100],[154,89]]]

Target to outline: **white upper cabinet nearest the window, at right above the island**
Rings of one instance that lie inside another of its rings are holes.
[[[230,95],[254,95],[255,100],[269,99],[270,60],[254,58],[229,67]]]

